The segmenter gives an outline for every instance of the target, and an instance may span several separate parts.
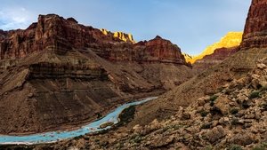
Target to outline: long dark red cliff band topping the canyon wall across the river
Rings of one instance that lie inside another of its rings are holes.
[[[3,31],[0,35],[4,35],[0,59],[18,59],[34,51],[53,50],[64,54],[71,49],[90,48],[109,60],[187,65],[180,48],[159,36],[149,42],[129,43],[97,28],[80,25],[73,18],[65,20],[55,14],[40,15],[27,29]]]

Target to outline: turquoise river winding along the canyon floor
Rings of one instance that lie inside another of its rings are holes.
[[[32,145],[32,144],[43,144],[43,143],[51,143],[58,140],[63,140],[67,138],[75,138],[78,136],[85,135],[86,133],[92,133],[101,130],[107,130],[110,126],[101,129],[101,124],[105,122],[113,122],[116,124],[118,121],[118,115],[127,107],[141,105],[147,101],[152,99],[157,99],[157,97],[150,97],[147,99],[142,99],[141,101],[135,101],[131,103],[126,103],[120,107],[117,107],[115,110],[107,114],[105,117],[97,120],[95,122],[91,122],[77,130],[67,130],[67,131],[49,131],[39,134],[32,135],[23,135],[23,136],[5,136],[0,135],[0,145],[14,144],[14,145]]]

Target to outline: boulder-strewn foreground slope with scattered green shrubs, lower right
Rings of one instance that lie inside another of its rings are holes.
[[[267,61],[168,119],[36,149],[266,149]]]

